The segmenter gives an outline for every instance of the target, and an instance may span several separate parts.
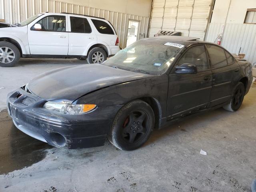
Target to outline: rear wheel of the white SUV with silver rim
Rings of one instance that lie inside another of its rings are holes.
[[[98,58],[97,58],[98,57]],[[96,59],[94,59],[96,58]],[[87,55],[87,62],[90,63],[102,63],[107,60],[106,52],[99,47],[92,48]]]

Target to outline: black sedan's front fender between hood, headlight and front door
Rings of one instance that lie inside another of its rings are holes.
[[[168,76],[154,76],[150,78],[124,82],[112,85],[78,98],[73,104],[96,104],[98,107],[124,105],[140,98],[157,100],[162,110],[161,116],[166,116],[166,102],[168,94]]]

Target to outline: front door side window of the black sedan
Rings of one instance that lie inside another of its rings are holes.
[[[177,66],[180,66],[184,63],[195,65],[198,72],[208,70],[209,66],[204,46],[198,45],[189,48],[179,60]]]

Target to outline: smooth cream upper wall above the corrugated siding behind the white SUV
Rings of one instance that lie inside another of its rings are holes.
[[[61,0],[71,4],[149,17],[152,0]]]

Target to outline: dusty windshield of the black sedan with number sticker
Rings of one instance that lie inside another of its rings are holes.
[[[132,72],[161,75],[166,72],[183,47],[158,39],[143,39],[120,50],[102,64]]]

